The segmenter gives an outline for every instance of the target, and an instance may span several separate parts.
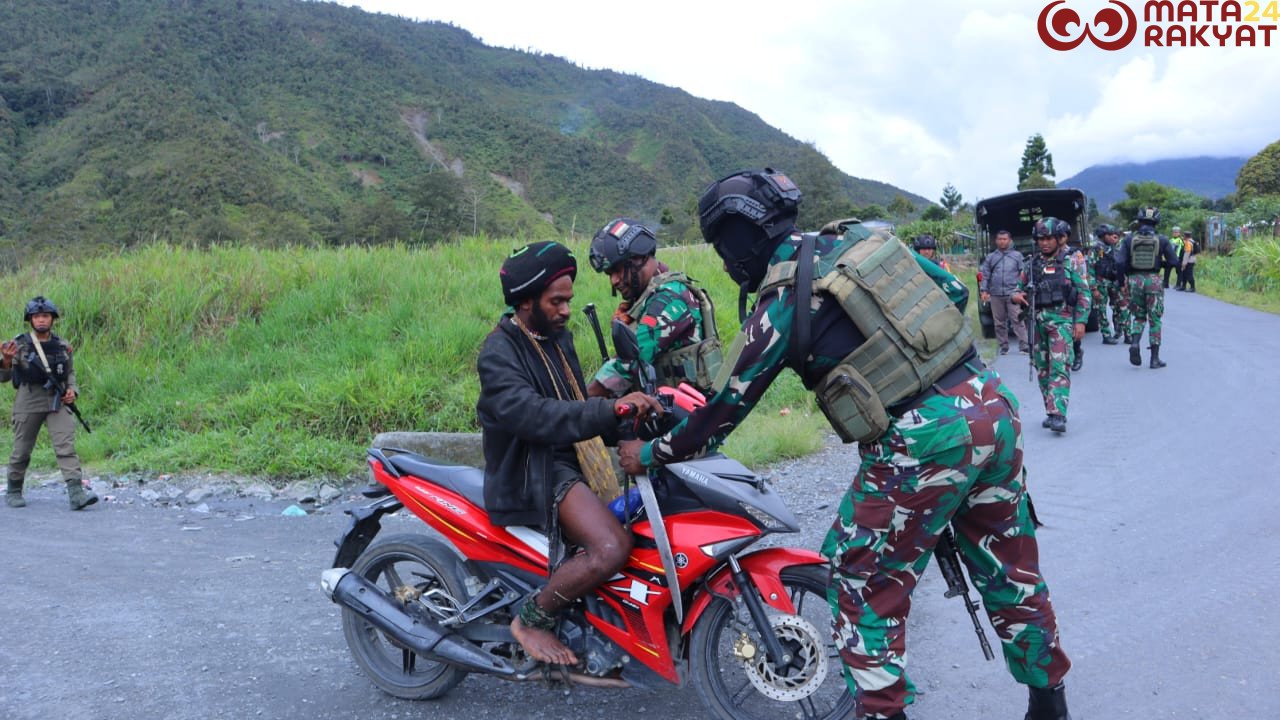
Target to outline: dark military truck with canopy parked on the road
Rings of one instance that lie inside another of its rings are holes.
[[[1088,215],[1089,202],[1084,192],[1075,188],[1024,190],[980,200],[974,208],[979,263],[996,250],[996,233],[1000,231],[1009,231],[1014,237],[1014,249],[1024,258],[1038,252],[1036,241],[1032,240],[1032,227],[1041,218],[1057,218],[1071,223],[1071,245],[1088,249],[1092,243]],[[982,283],[980,270],[978,282]],[[991,318],[989,304],[982,302],[978,306],[978,319],[982,322],[982,336],[996,337],[996,323]],[[1089,332],[1098,329],[1096,313],[1089,315],[1087,329]]]

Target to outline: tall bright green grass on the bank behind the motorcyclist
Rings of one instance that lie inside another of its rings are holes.
[[[78,447],[99,470],[193,469],[347,475],[384,430],[474,430],[475,355],[503,310],[497,270],[520,242],[467,240],[326,250],[150,246],[0,278],[0,295],[44,293],[76,348]],[[579,247],[579,255],[585,247]],[[708,246],[664,251],[719,300],[737,328],[736,288]],[[582,265],[575,305],[605,318],[616,299]],[[13,302],[10,334],[23,331]],[[590,373],[586,319],[571,327]],[[796,411],[780,415],[783,407]],[[791,373],[735,434],[748,464],[815,450],[826,420]],[[3,437],[0,452],[12,438]],[[51,466],[47,443],[36,462]]]

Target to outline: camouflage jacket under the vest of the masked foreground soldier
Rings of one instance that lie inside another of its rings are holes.
[[[872,229],[849,227],[846,236],[865,238]],[[819,258],[838,251],[840,236],[818,236],[814,252]],[[769,259],[769,265],[792,260],[800,247],[800,236],[783,241]],[[950,273],[915,254],[920,268],[947,293],[961,311],[968,302],[968,288]],[[791,334],[795,325],[795,292],[777,287],[755,300],[751,314],[742,323],[724,355],[714,393],[705,406],[685,418],[666,436],[646,443],[640,451],[644,465],[664,465],[714,452],[724,438],[760,401],[764,391],[790,366]],[[831,296],[814,292],[809,305],[812,340],[800,374],[805,387],[813,388],[865,337]]]

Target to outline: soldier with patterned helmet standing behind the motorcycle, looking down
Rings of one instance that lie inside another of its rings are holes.
[[[716,307],[694,281],[659,263],[657,251],[649,228],[617,218],[591,240],[591,268],[608,274],[622,296],[613,316],[635,331],[640,359],[653,365],[658,384],[687,382],[707,393],[721,364]],[[621,397],[631,387],[627,364],[613,359],[595,374],[588,395]]]

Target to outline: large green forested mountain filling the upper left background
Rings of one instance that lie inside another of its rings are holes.
[[[155,240],[696,233],[696,193],[788,172],[817,224],[897,195],[737,105],[298,0],[0,3],[0,263]]]

